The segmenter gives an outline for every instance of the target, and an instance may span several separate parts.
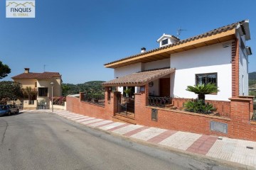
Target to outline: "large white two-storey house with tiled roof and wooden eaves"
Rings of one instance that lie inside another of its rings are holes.
[[[252,55],[246,41],[250,40],[249,21],[240,21],[180,40],[162,35],[159,48],[105,64],[114,69],[114,80],[104,86],[127,87],[133,93],[149,84],[149,96],[196,98],[186,91],[195,84],[216,84],[217,94],[206,100],[229,101],[228,98],[248,95],[248,56]]]

